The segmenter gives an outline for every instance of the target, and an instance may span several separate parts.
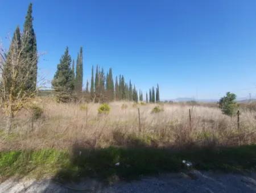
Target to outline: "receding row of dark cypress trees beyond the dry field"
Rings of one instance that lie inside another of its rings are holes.
[[[76,70],[75,61],[72,62],[71,68],[71,56],[68,51],[68,47],[65,49],[65,53],[60,59],[60,63],[57,65],[57,71],[52,80],[52,87],[56,92],[56,98],[59,102],[69,102],[73,99],[85,98],[87,101],[93,102],[106,102],[113,100],[130,100],[138,102],[143,101],[143,93],[139,90],[139,93],[132,85],[131,80],[125,81],[123,75],[115,77],[115,83],[113,78],[112,68],[106,73],[103,68],[96,66],[96,72],[94,74],[94,68],[92,66],[92,76],[89,82],[86,82],[86,89],[82,94],[82,77],[83,77],[83,61],[82,61],[82,47],[77,54]],[[76,71],[76,72],[75,72]],[[159,86],[156,87],[156,93],[154,87],[149,91],[149,102],[159,102]],[[148,95],[146,93],[146,102],[148,102]]]

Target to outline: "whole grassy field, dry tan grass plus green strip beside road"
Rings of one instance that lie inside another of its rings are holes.
[[[109,103],[109,113],[98,114],[100,104],[56,103],[41,97],[33,106],[36,119],[31,108],[23,109],[9,134],[1,114],[3,179],[31,174],[113,181],[184,170],[183,159],[192,161],[195,169],[255,169],[256,112],[246,106],[240,110],[239,128],[237,116],[223,115],[216,104],[123,101]],[[152,112],[156,106],[158,111]],[[118,162],[121,166],[115,167]]]

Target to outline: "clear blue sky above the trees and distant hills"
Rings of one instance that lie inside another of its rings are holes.
[[[40,77],[52,79],[67,45],[72,58],[82,46],[85,81],[98,64],[144,92],[159,83],[162,99],[256,95],[255,0],[0,0],[5,47],[29,2]]]

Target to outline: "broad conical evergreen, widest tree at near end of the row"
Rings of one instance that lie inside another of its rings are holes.
[[[72,99],[74,77],[68,47],[60,59],[60,64],[57,65],[57,71],[52,80],[52,87],[56,92],[56,98],[59,102],[69,102]]]

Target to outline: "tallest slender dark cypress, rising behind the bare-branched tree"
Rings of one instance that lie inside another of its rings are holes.
[[[36,35],[33,28],[32,3],[28,6],[26,20],[23,27],[22,44],[24,45],[22,56],[26,60],[28,68],[33,69],[26,83],[27,90],[36,90],[38,74],[38,51],[36,47]]]

